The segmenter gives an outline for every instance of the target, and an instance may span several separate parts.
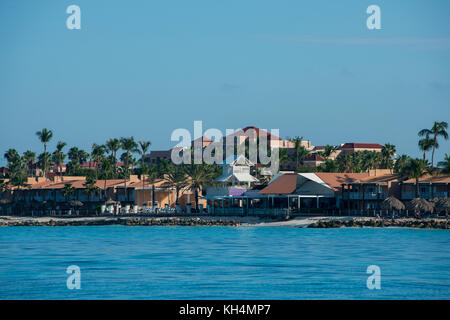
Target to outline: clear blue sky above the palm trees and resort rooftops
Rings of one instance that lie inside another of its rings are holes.
[[[202,120],[420,156],[417,132],[450,122],[449,15],[445,0],[1,1],[0,151],[41,152],[44,127],[50,150],[121,136],[166,149]]]

